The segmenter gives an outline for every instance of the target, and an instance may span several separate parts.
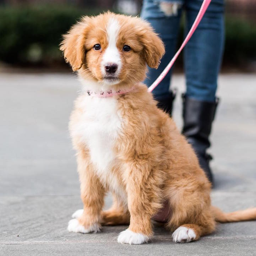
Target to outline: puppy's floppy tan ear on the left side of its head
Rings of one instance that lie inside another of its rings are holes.
[[[85,39],[88,27],[88,18],[83,17],[80,22],[75,24],[66,34],[60,43],[60,50],[64,52],[66,62],[69,62],[72,70],[81,68],[85,62]]]

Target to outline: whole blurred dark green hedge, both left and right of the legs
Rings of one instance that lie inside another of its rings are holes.
[[[0,7],[0,61],[15,65],[63,64],[61,35],[82,15],[98,10],[75,6]],[[180,38],[181,43],[182,38]],[[179,43],[179,45],[180,45]],[[226,18],[224,63],[243,65],[256,59],[256,27]]]

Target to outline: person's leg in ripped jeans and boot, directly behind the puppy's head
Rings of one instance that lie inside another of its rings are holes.
[[[143,0],[141,17],[151,23],[165,45],[165,55],[158,69],[149,68],[145,80],[148,87],[156,80],[175,54],[182,6],[183,1],[179,0]],[[171,114],[174,94],[169,92],[170,77],[171,71],[154,89],[153,94],[158,101],[158,106]]]

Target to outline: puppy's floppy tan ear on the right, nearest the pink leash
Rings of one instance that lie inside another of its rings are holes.
[[[158,68],[165,50],[164,43],[148,22],[142,21],[140,40],[144,46],[145,59],[149,67]]]

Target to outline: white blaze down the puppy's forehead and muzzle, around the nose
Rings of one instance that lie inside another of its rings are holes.
[[[102,75],[103,76],[105,75],[105,65],[107,63],[115,63],[118,65],[118,69],[116,70],[116,74],[118,75],[121,69],[121,64],[122,64],[118,48],[116,47],[116,40],[118,38],[120,24],[116,19],[110,18],[106,29],[107,29],[108,46],[102,57],[102,63],[101,63]]]

